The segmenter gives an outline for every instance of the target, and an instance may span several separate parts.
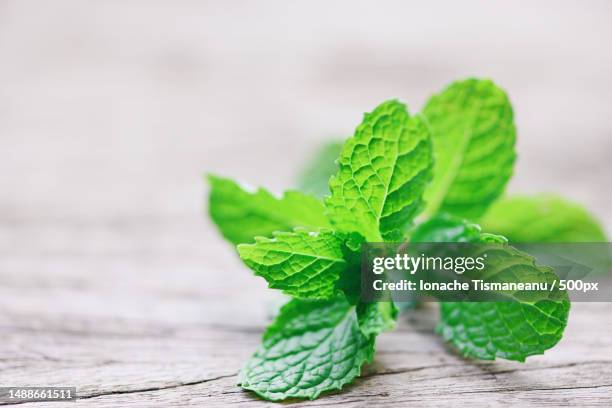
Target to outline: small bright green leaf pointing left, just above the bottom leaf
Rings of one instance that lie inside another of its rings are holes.
[[[346,270],[343,239],[330,230],[296,229],[257,237],[254,244],[238,245],[238,253],[255,275],[271,288],[298,298],[327,299]]]

